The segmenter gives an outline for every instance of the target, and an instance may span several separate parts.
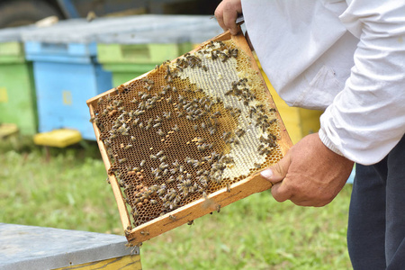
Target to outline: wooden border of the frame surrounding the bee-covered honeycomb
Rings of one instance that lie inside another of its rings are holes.
[[[247,55],[251,59],[251,66],[255,70],[257,70],[258,75],[261,76],[259,67],[257,67],[257,62],[255,61],[255,58],[243,34],[240,33],[236,36],[232,36],[230,35],[229,31],[227,31],[211,40],[216,41],[229,39],[232,39],[233,42],[237,44],[238,49],[242,49],[247,53]],[[204,44],[207,44],[211,40],[207,40],[206,42],[202,43],[202,46]],[[134,78],[133,80],[137,80],[144,76],[147,76],[147,74]],[[261,78],[264,81],[263,77]],[[130,84],[130,82],[127,82],[124,85]],[[266,88],[265,83],[264,85]],[[117,91],[115,89],[112,89],[88,100],[87,105],[89,106],[91,116],[94,117],[94,106],[100,97],[103,97],[108,94],[114,95],[116,93]],[[268,94],[268,102],[272,107],[275,108],[275,103],[267,88],[266,94]],[[284,127],[284,123],[278,112],[277,112],[277,119],[280,126],[280,134],[279,134],[280,139],[277,140],[277,143],[284,155],[287,152],[287,150],[292,147],[293,143],[287,133],[287,130]],[[107,150],[103,144],[103,141],[99,139],[100,131],[98,130],[95,123],[93,123],[93,126],[95,137],[97,139],[97,143],[100,148],[101,155],[103,157],[103,163],[105,165],[107,172],[109,172],[109,169],[111,168],[112,164],[110,162],[110,159],[108,158]],[[112,174],[109,175],[109,178],[110,183],[112,185],[112,191],[114,193],[115,200],[118,204],[118,211],[120,212],[121,223],[123,229],[125,230],[125,235],[130,245],[139,245],[141,242],[146,241],[149,238],[154,238],[157,235],[160,235],[170,229],[175,229],[176,227],[183,225],[184,223],[188,223],[196,218],[202,217],[203,215],[210,213],[211,211],[216,211],[218,208],[224,207],[231,202],[236,202],[240,199],[247,197],[252,193],[263,192],[271,187],[271,184],[268,181],[266,181],[266,179],[264,179],[259,173],[249,175],[246,179],[241,180],[238,183],[231,184],[230,192],[229,190],[227,190],[226,187],[222,188],[217,192],[210,193],[207,196],[207,198],[202,198],[194,202],[190,202],[184,205],[183,207],[176,209],[175,211],[170,211],[165,215],[162,215],[154,220],[150,220],[144,224],[139,225],[136,228],[132,228],[130,222],[130,214],[127,210],[127,206],[122,196],[120,184],[118,183],[117,177]]]

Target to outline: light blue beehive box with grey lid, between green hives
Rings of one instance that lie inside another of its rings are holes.
[[[112,75],[96,58],[94,25],[72,20],[23,33],[33,62],[40,132],[78,130],[95,139],[85,101],[112,88]]]

